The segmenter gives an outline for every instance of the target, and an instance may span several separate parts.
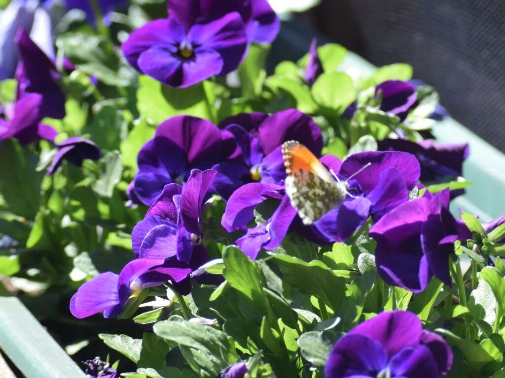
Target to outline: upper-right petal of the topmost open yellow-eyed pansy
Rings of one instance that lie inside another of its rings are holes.
[[[220,54],[223,62],[221,75],[238,67],[247,47],[244,23],[236,12],[193,25],[188,32],[188,39],[195,45],[205,46]]]

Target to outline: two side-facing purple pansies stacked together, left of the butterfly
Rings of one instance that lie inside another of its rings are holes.
[[[183,295],[191,290],[189,276],[207,259],[201,237],[200,214],[215,171],[193,170],[181,188],[168,184],[143,221],[132,232],[136,259],[119,275],[107,272],[84,283],[70,302],[76,318],[104,311],[104,317],[117,317],[129,298],[143,289],[171,281]]]

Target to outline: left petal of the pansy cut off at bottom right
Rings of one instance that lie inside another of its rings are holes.
[[[365,335],[347,334],[331,349],[324,367],[325,378],[368,377],[387,364],[382,345]],[[374,375],[375,376],[375,375]]]

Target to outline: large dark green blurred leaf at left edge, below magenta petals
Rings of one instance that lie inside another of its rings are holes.
[[[43,172],[36,172],[38,156],[18,141],[2,141],[0,148],[0,193],[9,211],[27,219],[34,219],[40,205],[40,183]],[[7,164],[7,162],[9,162]]]

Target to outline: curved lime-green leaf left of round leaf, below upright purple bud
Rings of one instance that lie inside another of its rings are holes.
[[[265,85],[279,96],[291,99],[293,107],[304,113],[313,113],[317,109],[317,104],[312,98],[309,87],[302,84],[298,79],[283,77],[283,76],[270,76],[265,81]],[[290,102],[290,103],[291,103]]]

